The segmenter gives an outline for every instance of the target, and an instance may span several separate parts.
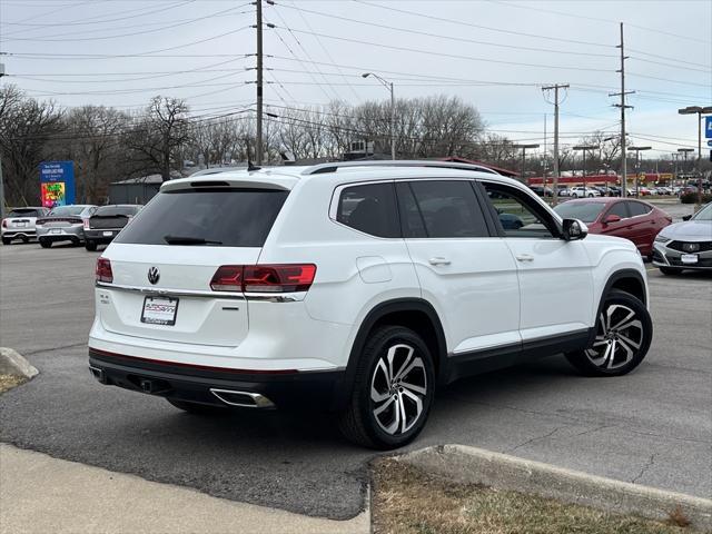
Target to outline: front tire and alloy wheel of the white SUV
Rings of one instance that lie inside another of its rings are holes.
[[[585,376],[622,376],[645,358],[652,339],[653,322],[645,305],[629,293],[613,289],[596,319],[593,346],[565,356]]]

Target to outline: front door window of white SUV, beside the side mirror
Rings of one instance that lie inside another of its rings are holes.
[[[506,237],[547,238],[558,235],[546,210],[525,192],[500,184],[483,185]]]

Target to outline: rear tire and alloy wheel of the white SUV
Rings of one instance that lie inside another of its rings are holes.
[[[342,434],[377,449],[411,443],[433,404],[435,370],[427,345],[409,328],[384,326],[369,334],[358,356],[352,398],[338,414]]]

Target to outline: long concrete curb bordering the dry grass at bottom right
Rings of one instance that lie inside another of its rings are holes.
[[[428,473],[498,490],[665,521],[679,508],[696,528],[712,528],[712,501],[463,445],[428,447],[398,457]]]

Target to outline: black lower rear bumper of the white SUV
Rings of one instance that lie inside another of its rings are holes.
[[[250,372],[187,364],[172,364],[89,348],[89,367],[100,383],[139,393],[227,407],[244,404],[253,408],[336,409],[335,392],[345,378],[344,370],[327,372]],[[243,403],[245,394],[255,404]],[[218,395],[216,395],[218,393]],[[238,399],[234,404],[220,400]]]

